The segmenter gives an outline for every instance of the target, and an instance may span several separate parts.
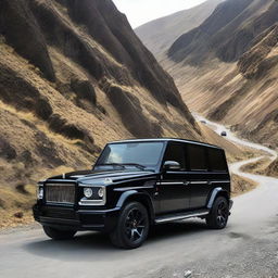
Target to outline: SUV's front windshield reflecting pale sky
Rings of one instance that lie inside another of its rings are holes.
[[[163,142],[111,143],[105,147],[96,166],[138,164],[154,167],[160,162],[163,146]]]

